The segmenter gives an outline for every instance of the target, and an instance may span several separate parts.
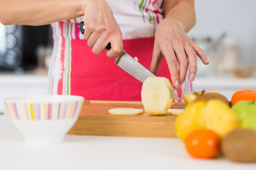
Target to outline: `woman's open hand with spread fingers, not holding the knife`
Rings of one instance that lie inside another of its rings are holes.
[[[153,57],[149,70],[156,74],[161,60],[165,57],[174,89],[178,90],[186,79],[188,64],[190,66],[188,78],[191,81],[195,79],[196,55],[201,58],[203,64],[209,64],[203,50],[186,34],[183,24],[165,18],[159,23],[156,30]]]

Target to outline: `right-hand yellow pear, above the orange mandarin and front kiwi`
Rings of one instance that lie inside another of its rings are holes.
[[[240,119],[223,101],[217,99],[207,101],[202,113],[206,128],[214,130],[220,138],[240,126]]]

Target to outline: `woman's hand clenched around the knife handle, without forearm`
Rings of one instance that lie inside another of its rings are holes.
[[[119,55],[123,47],[122,32],[110,6],[104,0],[87,1],[84,7],[84,23],[84,38],[95,55],[99,55],[109,42],[112,48],[107,51],[107,56],[111,58]]]

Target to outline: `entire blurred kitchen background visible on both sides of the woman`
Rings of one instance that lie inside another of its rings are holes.
[[[197,23],[188,35],[210,64],[198,60],[193,90],[216,89],[229,99],[240,89],[256,90],[255,6],[255,0],[195,0]],[[0,24],[0,99],[48,94],[51,31]]]

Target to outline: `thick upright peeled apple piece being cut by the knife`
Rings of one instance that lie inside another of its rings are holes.
[[[147,110],[171,108],[171,82],[165,77],[149,77],[142,85],[142,104]]]

